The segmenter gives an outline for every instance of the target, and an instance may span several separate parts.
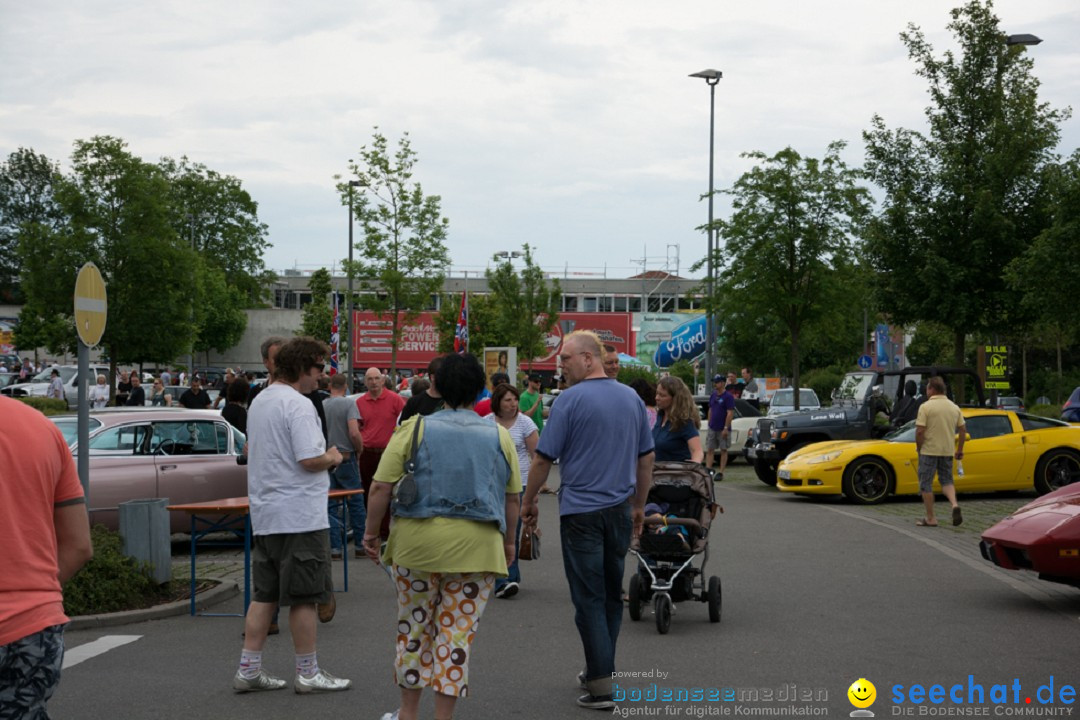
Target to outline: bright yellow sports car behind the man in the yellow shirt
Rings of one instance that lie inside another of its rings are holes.
[[[1011,410],[963,408],[968,437],[958,492],[1026,490],[1044,494],[1080,479],[1080,427]],[[800,494],[845,494],[868,505],[891,494],[918,494],[915,423],[883,439],[814,443],[787,456],[777,487]],[[934,490],[940,490],[934,480]]]

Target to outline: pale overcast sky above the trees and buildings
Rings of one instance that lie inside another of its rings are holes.
[[[72,141],[116,135],[148,161],[187,154],[259,203],[274,270],[348,253],[333,176],[378,125],[408,132],[443,199],[456,273],[536,247],[545,269],[623,277],[704,255],[708,91],[716,187],[739,155],[821,155],[881,114],[923,126],[926,84],[899,33],[950,46],[959,0],[0,0],[0,152],[65,169]],[[1080,4],[999,0],[1054,107],[1080,97]],[[1080,121],[1061,151],[1080,147]],[[719,200],[718,216],[728,205]],[[671,246],[671,247],[669,247]],[[677,250],[676,247],[677,246]]]

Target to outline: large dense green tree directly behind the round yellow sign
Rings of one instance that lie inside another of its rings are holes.
[[[190,345],[194,332],[198,258],[173,232],[166,178],[132,155],[123,140],[108,136],[76,141],[71,165],[70,176],[54,185],[67,221],[53,228],[33,223],[19,236],[27,302],[17,341],[75,352],[75,281],[79,268],[92,260],[109,294],[102,345],[110,373],[114,377],[118,363],[172,359]]]

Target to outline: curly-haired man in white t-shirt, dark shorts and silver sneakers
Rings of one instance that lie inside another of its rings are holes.
[[[305,394],[319,385],[329,350],[312,338],[289,340],[275,357],[274,382],[247,413],[247,495],[251,503],[254,599],[244,622],[237,692],[281,690],[284,680],[262,669],[262,646],[278,604],[289,608],[297,693],[348,690],[351,680],[319,668],[319,603],[332,598],[328,470],[341,464],[326,449],[314,405]]]

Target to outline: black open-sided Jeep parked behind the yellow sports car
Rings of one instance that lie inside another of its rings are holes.
[[[919,402],[924,398],[926,381],[935,375],[945,379],[950,399],[956,399],[962,385],[963,397],[968,400],[963,405],[985,405],[983,383],[970,368],[913,366],[903,370],[849,372],[833,392],[831,407],[758,420],[747,460],[754,465],[758,479],[775,485],[780,461],[805,445],[880,437],[894,429],[882,422],[882,417],[888,417],[890,408],[901,400],[904,384],[908,380],[918,383],[916,402]],[[891,402],[887,402],[887,397],[892,398]]]

